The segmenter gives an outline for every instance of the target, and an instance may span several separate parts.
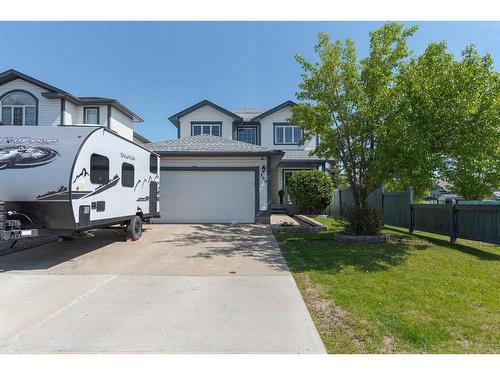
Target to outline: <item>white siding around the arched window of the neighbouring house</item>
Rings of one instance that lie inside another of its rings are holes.
[[[1,85],[0,96],[11,90],[28,91],[38,99],[39,126],[61,124],[61,99],[47,99],[42,96],[47,90],[19,78]]]

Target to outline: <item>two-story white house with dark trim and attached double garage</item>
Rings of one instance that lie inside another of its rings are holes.
[[[162,157],[159,221],[269,222],[287,206],[287,179],[325,163],[311,155],[318,139],[302,144],[289,123],[294,105],[229,111],[203,100],[171,116],[177,139],[147,145]]]

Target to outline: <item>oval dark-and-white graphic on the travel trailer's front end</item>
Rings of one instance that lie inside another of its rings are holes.
[[[0,170],[35,168],[51,163],[59,156],[56,150],[42,146],[0,147]]]

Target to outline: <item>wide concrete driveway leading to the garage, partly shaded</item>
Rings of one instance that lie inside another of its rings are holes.
[[[93,234],[0,257],[0,352],[325,352],[268,226]]]

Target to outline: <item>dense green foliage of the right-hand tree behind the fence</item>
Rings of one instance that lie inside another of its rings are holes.
[[[465,199],[500,184],[500,81],[491,56],[473,46],[457,61],[446,43],[431,43],[402,71],[398,118],[389,129],[387,184],[421,195],[448,180]]]

